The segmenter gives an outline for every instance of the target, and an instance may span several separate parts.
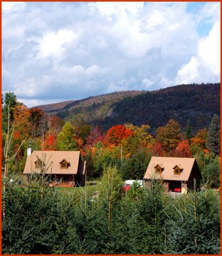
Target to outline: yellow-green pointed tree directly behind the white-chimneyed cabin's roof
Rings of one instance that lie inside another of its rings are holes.
[[[77,150],[74,135],[74,127],[70,122],[66,122],[58,134],[57,148],[59,150]]]

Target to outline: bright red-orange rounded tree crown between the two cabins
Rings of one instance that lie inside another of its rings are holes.
[[[123,139],[132,136],[134,133],[131,129],[126,129],[125,125],[115,125],[107,131],[107,140],[109,143],[118,145]]]

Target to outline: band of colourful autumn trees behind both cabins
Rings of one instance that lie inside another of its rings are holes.
[[[33,150],[80,150],[87,163],[88,179],[99,178],[107,166],[116,166],[122,179],[143,179],[151,156],[195,157],[203,179],[212,188],[219,186],[220,127],[216,114],[209,127],[196,134],[189,120],[182,129],[170,119],[152,135],[148,124],[118,124],[104,131],[97,125],[86,124],[81,116],[65,122],[41,109],[28,109],[11,92],[2,101],[2,152],[8,129],[13,127],[9,155],[17,154],[9,169],[15,173],[23,172],[31,145]]]

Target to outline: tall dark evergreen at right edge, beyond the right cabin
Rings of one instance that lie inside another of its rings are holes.
[[[216,114],[212,117],[207,133],[207,149],[215,155],[220,152],[220,125]]]

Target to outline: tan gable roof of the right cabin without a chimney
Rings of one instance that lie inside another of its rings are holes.
[[[164,180],[189,180],[191,170],[195,158],[188,157],[152,157],[150,163],[148,164],[147,172],[145,173],[143,179],[150,179],[151,177],[163,177]],[[164,170],[161,174],[155,174],[154,167],[163,166]],[[174,174],[173,168],[178,166],[182,172],[180,175]]]

